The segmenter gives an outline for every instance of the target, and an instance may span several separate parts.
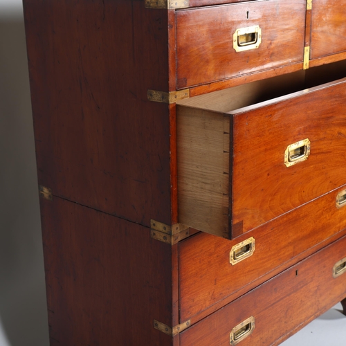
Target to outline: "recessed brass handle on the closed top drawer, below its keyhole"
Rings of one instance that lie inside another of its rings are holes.
[[[256,49],[261,42],[262,30],[258,25],[237,29],[233,34],[233,48],[237,53]]]

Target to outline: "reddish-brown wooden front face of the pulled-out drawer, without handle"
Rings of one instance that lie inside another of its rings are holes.
[[[294,95],[294,94],[292,94]],[[345,80],[268,107],[233,113],[233,224],[243,232],[345,181]],[[309,138],[307,161],[284,165],[288,145]]]

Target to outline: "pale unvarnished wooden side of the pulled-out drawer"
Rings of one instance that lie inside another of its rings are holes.
[[[230,117],[178,107],[179,222],[229,237]]]

